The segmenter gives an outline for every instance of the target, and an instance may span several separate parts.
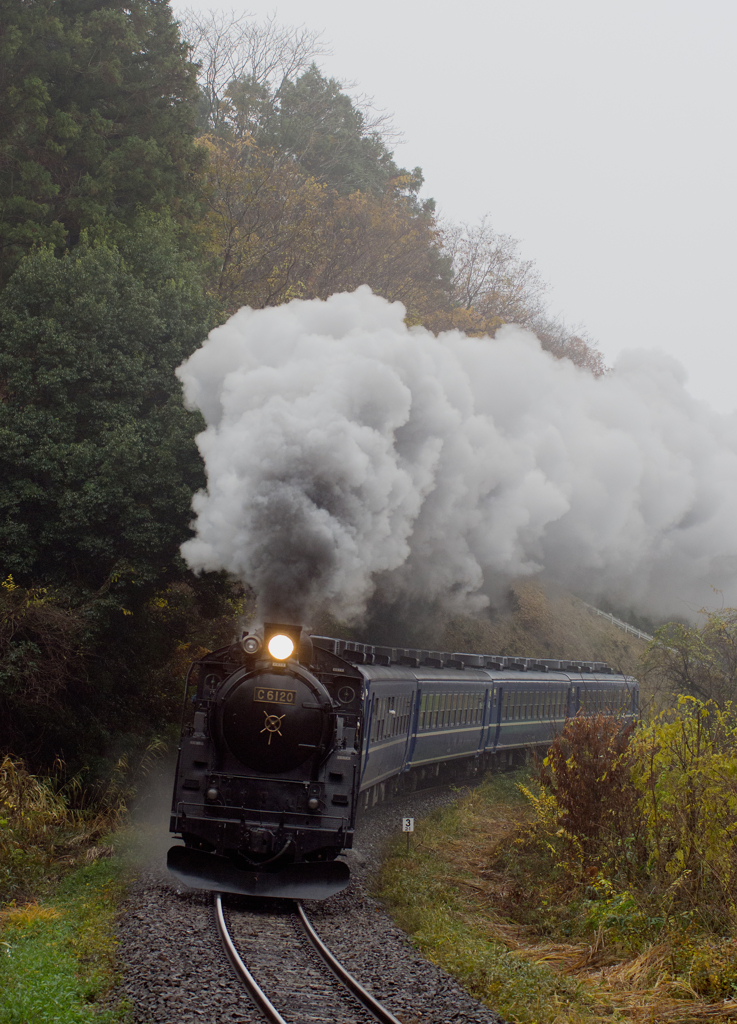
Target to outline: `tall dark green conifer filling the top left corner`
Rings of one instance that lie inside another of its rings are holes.
[[[38,242],[192,213],[197,69],[162,0],[3,0],[0,286]]]

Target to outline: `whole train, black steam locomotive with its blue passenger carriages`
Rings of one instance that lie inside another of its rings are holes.
[[[359,805],[512,765],[575,714],[637,709],[637,681],[601,663],[377,647],[266,623],[187,674],[169,869],[194,888],[323,899],[348,883],[337,857]]]

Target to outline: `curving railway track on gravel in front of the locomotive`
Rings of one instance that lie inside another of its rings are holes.
[[[401,1024],[336,959],[300,903],[215,895],[225,954],[271,1024]]]

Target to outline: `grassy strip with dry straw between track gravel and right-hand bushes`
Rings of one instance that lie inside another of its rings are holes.
[[[602,879],[562,880],[530,842],[519,775],[420,822],[408,855],[395,843],[379,893],[422,952],[508,1021],[736,1020],[734,940],[663,928]]]

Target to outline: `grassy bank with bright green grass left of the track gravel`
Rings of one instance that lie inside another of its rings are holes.
[[[0,1024],[123,1020],[124,1007],[103,1002],[125,891],[124,857],[105,836],[124,819],[126,784],[113,778],[72,809],[58,779],[0,761]]]

